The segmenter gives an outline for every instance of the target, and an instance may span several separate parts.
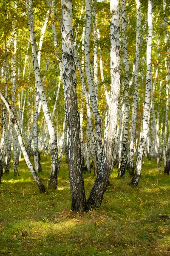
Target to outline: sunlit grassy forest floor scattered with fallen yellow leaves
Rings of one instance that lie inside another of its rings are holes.
[[[144,160],[137,188],[114,169],[101,207],[72,212],[68,165],[59,171],[57,191],[40,194],[24,160],[20,177],[0,184],[0,256],[165,256],[170,255],[170,177]],[[47,187],[50,158],[40,175]],[[84,174],[86,197],[95,178]]]

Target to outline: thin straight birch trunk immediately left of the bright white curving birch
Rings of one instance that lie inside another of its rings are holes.
[[[134,174],[134,142],[136,135],[136,122],[137,122],[137,111],[138,111],[138,73],[139,73],[139,53],[140,53],[140,31],[141,31],[141,4],[139,0],[136,0],[136,61],[135,61],[135,81],[134,87],[135,92],[133,96],[133,108],[132,108],[132,126],[130,132],[130,146],[129,155],[127,160],[127,169],[129,175]]]

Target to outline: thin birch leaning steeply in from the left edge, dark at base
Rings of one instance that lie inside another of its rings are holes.
[[[17,133],[18,141],[20,143],[21,150],[23,151],[23,155],[24,155],[26,164],[28,166],[28,169],[30,170],[30,172],[31,172],[35,182],[37,183],[37,186],[40,189],[40,192],[44,193],[45,192],[45,187],[42,184],[39,176],[37,175],[37,172],[35,171],[34,166],[32,165],[31,161],[29,160],[29,156],[28,156],[28,153],[27,153],[27,150],[26,150],[26,146],[23,143],[22,134],[21,134],[20,128],[19,128],[19,126],[17,124],[17,120],[16,120],[16,118],[14,116],[14,113],[13,113],[13,111],[11,109],[11,106],[10,106],[8,100],[3,96],[2,93],[0,93],[0,98],[5,103],[6,108],[7,108],[8,112],[9,112],[10,122],[11,122],[11,124],[14,125],[15,131]]]

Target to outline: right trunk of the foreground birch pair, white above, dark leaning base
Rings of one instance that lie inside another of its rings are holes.
[[[108,110],[108,121],[102,151],[102,161],[98,176],[88,198],[88,205],[102,203],[108,187],[109,176],[113,166],[113,149],[116,137],[117,116],[120,95],[120,24],[119,1],[111,0],[111,95]]]

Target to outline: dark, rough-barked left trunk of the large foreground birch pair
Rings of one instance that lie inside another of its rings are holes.
[[[81,166],[80,123],[77,108],[77,81],[74,63],[72,0],[62,5],[62,63],[66,119],[68,125],[68,169],[71,186],[71,209],[87,209]]]

